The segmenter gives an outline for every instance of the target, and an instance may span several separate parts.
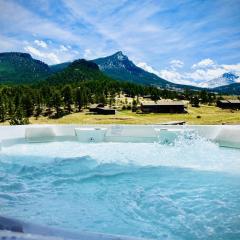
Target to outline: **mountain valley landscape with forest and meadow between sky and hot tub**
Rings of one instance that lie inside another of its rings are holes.
[[[238,107],[216,107],[218,100],[239,99],[240,84],[232,83],[238,79],[232,74],[223,76],[231,84],[204,89],[159,78],[135,66],[122,52],[94,61],[79,59],[53,66],[24,53],[2,53],[0,60],[2,124],[240,122]],[[146,114],[142,108],[145,103],[155,113]],[[102,113],[89,112],[92,104],[102,104]],[[165,113],[156,110],[163,108],[159,104],[165,105]],[[181,114],[173,113],[176,104],[185,105]],[[113,115],[103,115],[104,111],[112,111]]]

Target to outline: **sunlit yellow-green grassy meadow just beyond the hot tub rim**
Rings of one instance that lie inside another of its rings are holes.
[[[189,106],[186,114],[136,114],[119,111],[116,115],[89,115],[82,112],[59,119],[30,118],[32,124],[160,124],[170,121],[186,121],[187,124],[240,124],[240,111],[202,105],[200,108]]]

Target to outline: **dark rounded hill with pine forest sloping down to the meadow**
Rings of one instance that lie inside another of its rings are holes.
[[[59,118],[81,111],[90,103],[112,105],[120,93],[132,97],[149,94],[153,100],[160,96],[175,98],[178,94],[113,80],[105,76],[95,63],[77,60],[36,84],[0,85],[0,121],[25,124],[31,116]]]

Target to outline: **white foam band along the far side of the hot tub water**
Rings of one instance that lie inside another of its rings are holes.
[[[198,170],[224,171],[240,174],[240,151],[221,148],[203,138],[178,139],[173,145],[159,143],[97,143],[52,142],[18,144],[2,149],[14,161],[52,161],[54,158],[89,156],[97,163],[134,164],[138,166],[173,166]],[[8,158],[9,159],[9,158]]]

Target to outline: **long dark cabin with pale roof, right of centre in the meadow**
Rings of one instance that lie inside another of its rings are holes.
[[[159,101],[141,104],[143,113],[184,113],[185,104],[181,101]]]

